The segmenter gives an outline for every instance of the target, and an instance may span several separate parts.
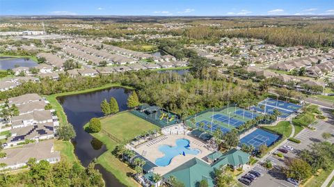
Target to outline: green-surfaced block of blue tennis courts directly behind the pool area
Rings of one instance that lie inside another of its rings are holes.
[[[230,114],[230,115],[229,115]],[[226,133],[234,128],[237,128],[260,115],[253,111],[247,111],[243,108],[230,106],[224,108],[221,111],[207,111],[192,117],[186,121],[189,127],[200,127],[200,124],[205,124],[205,130],[215,131],[221,129],[223,133]],[[210,125],[212,124],[212,127]]]

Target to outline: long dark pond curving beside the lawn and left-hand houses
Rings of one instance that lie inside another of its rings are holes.
[[[74,153],[85,167],[93,161],[94,158],[106,152],[106,147],[100,140],[93,138],[93,136],[90,136],[89,133],[84,131],[84,124],[89,122],[93,117],[103,116],[100,104],[104,99],[109,101],[111,97],[115,97],[118,101],[120,111],[127,110],[127,97],[129,97],[130,93],[131,90],[125,88],[109,88],[106,90],[57,98],[64,108],[68,122],[73,124],[74,130],[77,133],[77,136],[72,141]],[[96,165],[96,168],[102,173],[104,181],[106,181],[106,186],[123,187],[113,174],[106,171],[101,165]]]

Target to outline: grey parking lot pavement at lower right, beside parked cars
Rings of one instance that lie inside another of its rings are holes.
[[[281,172],[281,168],[285,167],[285,160],[288,158],[296,157],[302,149],[307,149],[308,145],[311,143],[316,143],[319,141],[324,141],[321,134],[324,132],[334,134],[334,118],[333,116],[328,115],[328,113],[324,113],[325,116],[328,117],[328,121],[324,122],[319,120],[319,122],[313,127],[316,130],[311,130],[308,128],[303,129],[295,138],[301,140],[301,143],[293,143],[287,141],[284,145],[289,145],[293,147],[294,150],[288,152],[287,154],[283,154],[285,158],[279,158],[278,156],[270,155],[267,159],[272,161],[274,167],[273,169],[267,171],[259,164],[255,164],[253,170],[261,172],[264,176],[255,179],[250,186],[285,186],[285,187],[292,187],[293,184],[290,184],[286,181],[285,175]],[[329,142],[334,143],[334,136],[328,139]],[[283,146],[284,146],[283,145]],[[244,185],[244,184],[243,184]],[[246,185],[244,185],[246,186]]]

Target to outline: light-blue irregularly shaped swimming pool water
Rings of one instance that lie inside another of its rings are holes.
[[[177,139],[176,140],[176,146],[170,147],[169,145],[160,145],[159,151],[164,153],[165,156],[161,158],[157,158],[155,160],[155,164],[158,166],[167,166],[170,164],[170,161],[177,156],[181,155],[183,156],[183,153],[186,154],[199,154],[200,150],[198,149],[190,149],[189,146],[189,140],[186,139]]]

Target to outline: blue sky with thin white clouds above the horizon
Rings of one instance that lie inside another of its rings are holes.
[[[0,15],[334,15],[334,0],[0,0]]]

